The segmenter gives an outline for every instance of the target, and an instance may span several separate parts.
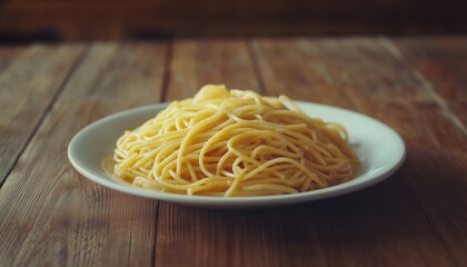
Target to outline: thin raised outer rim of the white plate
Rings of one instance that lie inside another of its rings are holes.
[[[143,188],[136,188],[126,186],[113,178],[109,176],[105,176],[102,174],[99,174],[99,171],[91,171],[90,169],[86,168],[85,166],[81,166],[81,164],[78,160],[78,155],[76,155],[76,146],[78,146],[80,138],[83,138],[86,135],[89,135],[89,132],[92,132],[92,130],[96,130],[101,125],[105,125],[109,120],[115,120],[120,118],[121,116],[129,116],[131,113],[140,113],[149,110],[155,110],[158,112],[159,110],[167,107],[170,102],[160,102],[160,103],[153,103],[148,106],[141,106],[136,107],[131,109],[126,109],[122,111],[118,111],[115,113],[111,113],[109,116],[105,116],[82,129],[80,129],[70,140],[67,149],[67,156],[69,161],[71,162],[72,167],[80,172],[86,178],[101,185],[105,187],[108,187],[110,189],[156,199],[156,200],[162,200],[162,201],[169,201],[169,202],[176,202],[181,205],[188,205],[188,206],[198,206],[198,207],[221,207],[221,208],[238,208],[238,207],[266,207],[266,206],[279,206],[279,205],[291,205],[291,204],[299,204],[299,202],[306,202],[306,201],[312,201],[312,200],[319,200],[319,199],[326,199],[331,197],[337,197],[341,195],[348,195],[368,187],[371,187],[376,184],[381,182],[382,180],[387,179],[394,172],[396,172],[400,166],[404,164],[406,158],[406,145],[404,142],[404,139],[400,137],[398,132],[396,132],[393,128],[385,125],[384,122],[371,118],[367,115],[359,113],[354,110],[348,110],[339,107],[322,105],[322,103],[316,103],[316,102],[308,102],[308,101],[295,101],[298,103],[299,107],[315,107],[315,108],[325,108],[325,109],[331,109],[337,110],[338,112],[345,112],[349,113],[351,116],[357,116],[366,120],[370,120],[371,122],[376,122],[379,127],[385,128],[386,131],[389,131],[396,141],[400,145],[400,155],[398,155],[398,159],[396,164],[389,167],[389,169],[381,174],[377,175],[376,177],[371,177],[370,179],[349,184],[352,180],[332,186],[327,187],[318,190],[312,191],[306,191],[306,192],[298,192],[298,194],[287,194],[287,195],[275,195],[275,196],[248,196],[248,197],[212,197],[212,196],[187,196],[187,195],[178,195],[178,194],[168,194],[168,192],[161,192],[161,191],[155,191],[150,189],[143,189]],[[148,118],[149,119],[149,118]],[[357,176],[358,178],[360,176]]]

